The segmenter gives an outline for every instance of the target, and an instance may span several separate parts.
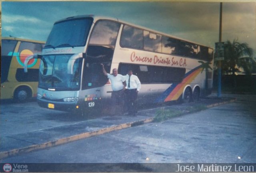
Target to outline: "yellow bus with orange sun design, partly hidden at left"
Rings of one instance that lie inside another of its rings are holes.
[[[28,62],[24,73],[25,59],[42,53],[43,41],[2,37],[1,39],[1,100],[24,101],[37,96],[38,68],[40,60]]]

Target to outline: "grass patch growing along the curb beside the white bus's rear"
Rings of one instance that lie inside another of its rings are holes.
[[[205,109],[207,109],[207,107],[202,104],[195,104],[193,106],[184,107],[182,106],[182,108],[160,108],[156,111],[156,115],[154,116],[154,122],[162,122],[175,116],[186,113],[198,112]]]

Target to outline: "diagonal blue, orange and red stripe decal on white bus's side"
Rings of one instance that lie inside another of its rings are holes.
[[[189,71],[185,74],[184,79],[181,83],[173,83],[167,90],[165,90],[161,96],[159,96],[155,102],[168,102],[172,100],[177,100],[183,93],[184,87],[191,83],[196,76],[203,70],[202,65],[196,67],[195,69]]]

